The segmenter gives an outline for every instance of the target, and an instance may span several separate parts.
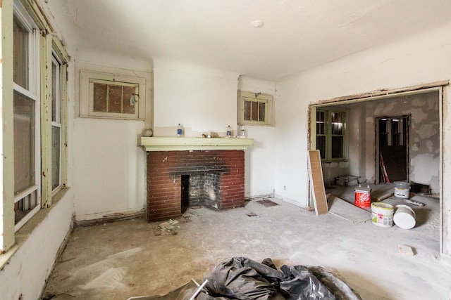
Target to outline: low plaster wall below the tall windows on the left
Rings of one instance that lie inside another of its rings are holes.
[[[16,238],[24,242],[0,271],[1,299],[39,299],[54,266],[58,249],[72,224],[72,197],[72,190],[68,190],[51,207],[49,214],[39,218],[39,214],[44,214],[43,210],[39,211],[37,216],[21,228],[18,235],[22,237]],[[27,229],[30,226],[34,228]]]

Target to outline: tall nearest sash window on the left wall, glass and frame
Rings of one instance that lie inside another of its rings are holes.
[[[13,15],[13,145],[16,230],[40,208],[39,37],[25,8]]]

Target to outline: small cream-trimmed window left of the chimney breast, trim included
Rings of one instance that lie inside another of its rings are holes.
[[[144,119],[144,78],[87,71],[80,73],[81,117]]]

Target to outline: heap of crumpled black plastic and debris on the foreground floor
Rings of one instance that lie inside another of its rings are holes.
[[[362,299],[332,273],[315,266],[282,266],[234,257],[213,268],[204,288],[188,282],[168,294],[131,299]],[[197,295],[197,296],[196,296]]]

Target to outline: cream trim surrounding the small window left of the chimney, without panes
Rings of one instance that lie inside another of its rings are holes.
[[[116,81],[139,86],[135,114],[121,114],[114,112],[94,112],[94,81]],[[146,79],[143,77],[130,77],[120,74],[108,74],[80,70],[80,117],[97,117],[112,119],[145,119],[146,105]]]

